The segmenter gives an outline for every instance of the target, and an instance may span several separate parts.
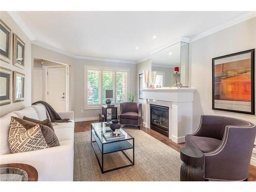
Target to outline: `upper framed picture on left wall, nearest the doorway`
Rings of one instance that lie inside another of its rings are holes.
[[[13,34],[13,65],[25,68],[25,43],[16,34]]]

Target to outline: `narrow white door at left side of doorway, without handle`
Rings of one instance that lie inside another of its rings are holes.
[[[43,95],[42,69],[33,69],[33,102],[42,101]]]

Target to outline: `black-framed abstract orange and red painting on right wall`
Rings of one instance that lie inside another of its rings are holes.
[[[212,109],[255,114],[255,50],[212,59]]]

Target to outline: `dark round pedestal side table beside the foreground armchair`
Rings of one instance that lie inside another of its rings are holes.
[[[204,154],[197,148],[183,147],[180,149],[180,181],[204,181],[202,166]]]

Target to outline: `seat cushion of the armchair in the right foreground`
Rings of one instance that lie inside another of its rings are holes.
[[[219,139],[186,135],[186,146],[199,148],[203,153],[216,150],[220,144]]]

